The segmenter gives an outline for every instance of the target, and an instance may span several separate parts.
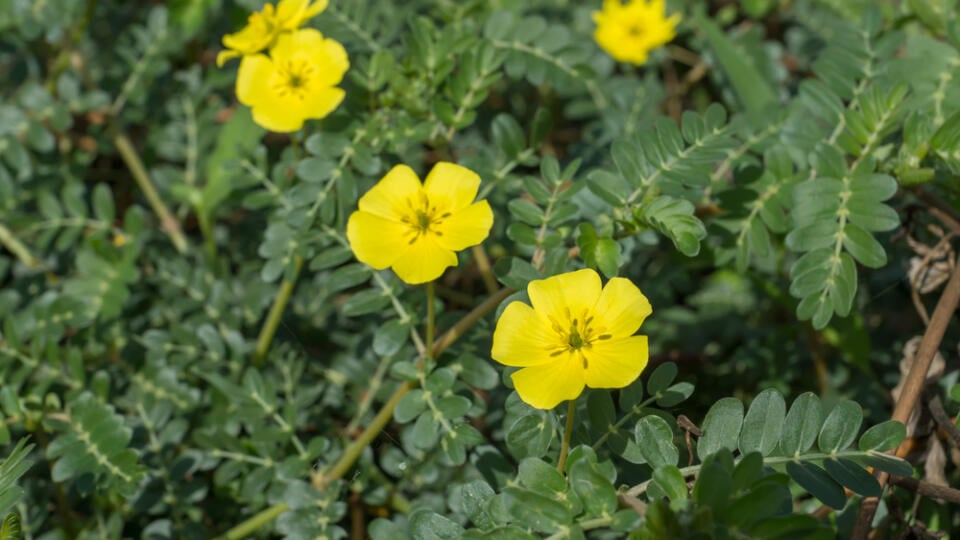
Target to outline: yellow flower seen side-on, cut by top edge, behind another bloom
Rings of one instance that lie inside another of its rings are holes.
[[[223,46],[227,48],[217,55],[217,66],[221,67],[231,58],[256,54],[273,46],[284,32],[292,32],[303,26],[307,20],[327,8],[327,0],[280,0],[263,6],[262,11],[250,14],[247,26],[234,34],[223,36]]]

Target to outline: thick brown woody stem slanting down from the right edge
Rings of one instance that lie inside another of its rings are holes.
[[[923,333],[923,339],[920,341],[920,348],[914,357],[913,366],[904,380],[903,391],[900,393],[900,399],[893,409],[893,420],[906,425],[910,414],[917,406],[917,401],[923,391],[923,384],[927,378],[927,372],[930,371],[930,364],[933,363],[933,357],[943,341],[943,334],[950,324],[957,304],[960,303],[960,265],[953,269],[950,281],[937,302],[937,307],[933,310],[933,316],[930,317],[930,324]],[[889,480],[890,475],[885,472],[877,473],[877,480],[883,486]],[[868,497],[863,500],[860,507],[860,515],[853,529],[851,538],[854,540],[866,540],[870,532],[870,524],[873,523],[873,516],[877,512],[877,505],[880,500],[877,497]]]

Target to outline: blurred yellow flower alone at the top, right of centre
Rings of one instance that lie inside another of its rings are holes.
[[[674,38],[680,14],[667,17],[664,0],[603,0],[603,10],[594,11],[593,20],[597,44],[614,59],[639,66],[650,51]]]

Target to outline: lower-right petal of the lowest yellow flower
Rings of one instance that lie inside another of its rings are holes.
[[[637,380],[647,366],[647,336],[595,341],[583,349],[587,358],[584,370],[590,388],[623,388]]]

